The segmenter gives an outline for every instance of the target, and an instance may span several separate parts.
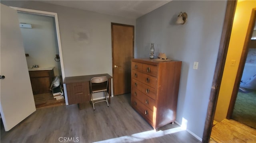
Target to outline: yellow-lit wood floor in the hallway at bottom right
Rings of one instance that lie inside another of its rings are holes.
[[[210,143],[256,143],[256,129],[232,119],[224,119],[212,127]]]

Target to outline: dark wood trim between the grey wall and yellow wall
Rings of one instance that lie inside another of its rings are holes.
[[[236,3],[237,3],[236,0],[228,0],[227,2],[226,15],[225,15],[222,35],[220,39],[218,58],[217,58],[214,77],[212,81],[212,89],[210,92],[210,99],[209,99],[209,104],[208,104],[208,109],[206,114],[206,121],[204,124],[204,133],[202,138],[203,143],[208,143],[210,141],[212,123],[214,120],[218,94],[220,91],[220,83],[221,83],[222,74],[224,71],[227,52],[228,52],[228,45],[230,41],[234,14],[236,10]]]

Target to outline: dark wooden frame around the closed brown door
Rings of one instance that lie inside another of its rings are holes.
[[[126,27],[132,27],[133,29],[133,43],[132,43],[132,58],[134,58],[134,25],[127,25],[127,24],[118,24],[118,23],[113,23],[111,22],[111,44],[112,44],[112,77],[113,77],[113,96],[115,95],[115,82],[114,82],[114,47],[113,47],[113,26],[114,25],[121,25],[121,26],[126,26]],[[132,61],[131,61],[132,62]]]

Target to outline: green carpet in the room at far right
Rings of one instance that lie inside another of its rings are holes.
[[[238,92],[232,119],[256,129],[256,91]]]

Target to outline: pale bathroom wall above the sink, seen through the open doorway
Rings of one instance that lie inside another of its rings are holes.
[[[18,13],[20,23],[31,24],[32,28],[20,28],[28,67],[54,67],[54,74],[60,75],[60,62],[54,58],[59,54],[54,17]]]

